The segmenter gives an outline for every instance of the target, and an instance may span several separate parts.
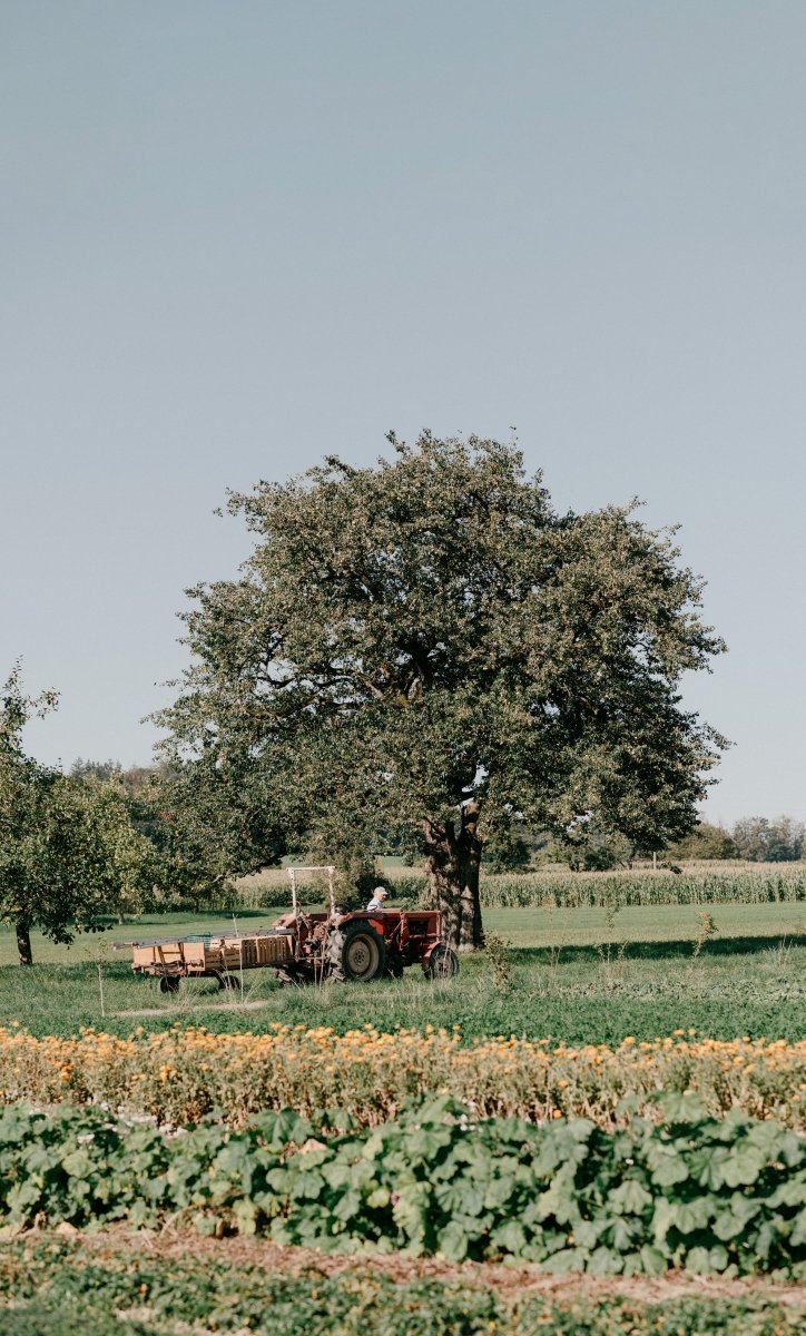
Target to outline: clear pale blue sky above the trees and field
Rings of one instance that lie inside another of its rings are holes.
[[[225,489],[517,426],[680,522],[711,819],[806,816],[806,5],[1,0],[0,671],[150,759]]]

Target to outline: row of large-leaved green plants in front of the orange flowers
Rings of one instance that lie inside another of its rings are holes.
[[[806,1141],[741,1114],[664,1101],[660,1126],[471,1122],[446,1098],[322,1140],[290,1110],[167,1137],[70,1106],[0,1117],[0,1218],[24,1228],[167,1216],[326,1252],[511,1257],[553,1273],[806,1277]],[[325,1124],[333,1122],[325,1114]]]

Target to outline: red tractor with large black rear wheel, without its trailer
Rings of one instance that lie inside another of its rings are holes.
[[[298,872],[327,872],[327,910],[299,908]],[[385,974],[400,978],[409,965],[421,965],[429,979],[453,978],[458,957],[442,935],[440,910],[357,910],[344,912],[335,904],[335,868],[291,867],[291,912],[271,925],[271,933],[289,942],[289,959],[277,970],[286,983],[322,978],[366,983]]]

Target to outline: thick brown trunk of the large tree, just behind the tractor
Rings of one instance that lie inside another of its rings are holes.
[[[460,808],[458,830],[453,822],[444,826],[432,819],[424,822],[430,904],[444,914],[449,945],[468,950],[484,943],[479,895],[484,846],[476,834],[477,826],[479,803],[475,800]]]

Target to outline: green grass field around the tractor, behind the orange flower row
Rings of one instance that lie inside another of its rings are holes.
[[[716,935],[695,958],[700,919],[692,906],[604,910],[489,910],[488,931],[509,943],[511,987],[496,986],[485,955],[462,957],[460,977],[430,983],[418,969],[400,981],[287,989],[273,970],[249,970],[230,997],[213,981],[187,981],[176,997],[131,974],[114,942],[231,929],[227,915],[151,916],[135,926],[57,947],[36,938],[32,969],[15,965],[15,941],[0,933],[0,1025],[35,1034],[96,1026],[128,1034],[171,1025],[263,1031],[273,1022],[330,1025],[345,1031],[458,1025],[462,1037],[525,1034],[569,1043],[615,1043],[676,1029],[731,1039],[806,1035],[806,906],[720,904]],[[274,911],[243,911],[238,927],[269,923]],[[99,987],[103,982],[103,1013]]]

